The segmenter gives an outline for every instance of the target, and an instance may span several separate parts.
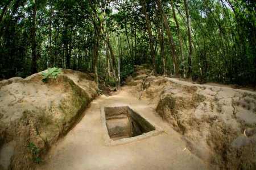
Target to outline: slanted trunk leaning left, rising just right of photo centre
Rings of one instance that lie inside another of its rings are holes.
[[[141,5],[142,5],[142,12],[145,15],[147,33],[148,33],[148,37],[150,39],[150,55],[151,55],[151,60],[152,60],[152,64],[153,64],[153,69],[154,69],[154,72],[156,72],[155,50],[154,50],[154,42],[153,42],[153,36],[152,36],[152,31],[151,31],[151,26],[150,26],[150,19],[149,19],[148,14],[147,14],[145,0],[141,0],[140,2],[141,2]]]

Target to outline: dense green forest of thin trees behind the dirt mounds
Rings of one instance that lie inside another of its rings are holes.
[[[0,78],[58,67],[122,84],[148,63],[155,74],[255,85],[255,10],[253,0],[2,0]]]

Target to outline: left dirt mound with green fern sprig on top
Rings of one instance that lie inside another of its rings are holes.
[[[89,74],[63,69],[56,80],[42,78],[0,81],[0,169],[33,169],[97,95]]]

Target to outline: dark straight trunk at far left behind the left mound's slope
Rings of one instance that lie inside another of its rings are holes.
[[[31,48],[32,48],[32,73],[36,73],[36,0],[32,9]]]

